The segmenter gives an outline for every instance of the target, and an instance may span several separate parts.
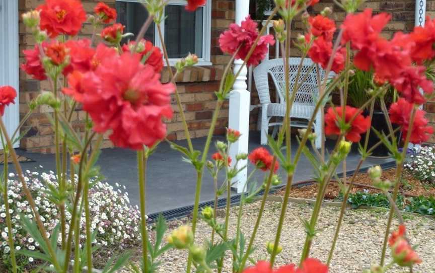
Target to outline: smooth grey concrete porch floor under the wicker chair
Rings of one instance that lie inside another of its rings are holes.
[[[213,138],[213,145],[210,147],[208,158],[215,152],[214,142],[224,140],[222,136]],[[197,150],[202,150],[205,144],[205,138],[192,140],[193,146]],[[177,141],[177,144],[187,146],[186,141]],[[328,141],[326,147],[332,149],[335,142]],[[297,150],[297,142],[292,142],[292,152]],[[251,131],[249,135],[249,151],[260,146],[260,135],[256,131]],[[356,146],[356,145],[354,145]],[[347,170],[354,170],[359,161],[359,154],[352,151],[347,157]],[[29,157],[35,162],[26,162],[22,164],[23,170],[38,170],[43,166],[43,171],[55,170],[54,155],[44,155],[35,153],[26,153],[19,151],[22,156]],[[161,143],[156,152],[151,156],[148,162],[147,173],[147,212],[149,214],[163,212],[166,210],[176,209],[193,204],[195,194],[196,172],[188,163],[182,162],[181,153],[170,148],[168,143]],[[369,158],[363,164],[363,167],[383,164],[391,159],[374,159]],[[137,184],[136,153],[126,149],[104,149],[100,155],[98,164],[101,166],[101,172],[105,180],[114,185],[119,183],[125,185],[130,197],[131,204],[138,204],[139,192]],[[11,165],[11,171],[14,171]],[[252,170],[252,164],[248,165],[248,174]],[[337,169],[340,172],[341,168]],[[224,172],[221,171],[220,183],[224,180]],[[281,179],[284,180],[285,173],[280,170]],[[307,180],[312,178],[313,168],[305,156],[301,157],[295,172],[294,181]],[[251,181],[261,184],[264,179],[264,173],[257,171]],[[209,201],[214,198],[214,188],[211,175],[204,170],[203,183],[201,190],[201,202]],[[234,191],[233,194],[236,194]]]

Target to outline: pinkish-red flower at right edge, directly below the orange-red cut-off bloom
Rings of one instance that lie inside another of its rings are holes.
[[[391,79],[391,84],[402,97],[410,103],[423,104],[426,99],[420,93],[419,87],[424,93],[432,93],[433,82],[426,79],[424,66],[408,66],[399,75]]]

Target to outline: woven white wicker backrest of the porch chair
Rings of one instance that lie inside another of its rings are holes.
[[[301,58],[288,58],[289,65],[289,81],[290,92],[292,92],[296,83],[298,67],[301,63]],[[325,77],[323,69],[319,69],[320,80]],[[270,103],[270,91],[268,75],[271,76],[276,90],[278,91],[279,102],[285,102],[285,77],[284,64],[282,58],[265,60],[254,69],[254,81],[257,87],[260,103]],[[317,85],[317,69],[315,63],[305,58],[302,63],[302,69],[299,77],[299,89],[296,91],[295,104],[315,105],[319,95]]]

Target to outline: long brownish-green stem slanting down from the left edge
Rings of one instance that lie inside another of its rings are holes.
[[[33,214],[35,216],[34,219],[36,221],[36,224],[38,225],[39,232],[42,236],[42,239],[44,240],[44,242],[47,245],[48,254],[51,257],[51,262],[54,265],[54,268],[56,268],[56,270],[60,271],[60,266],[59,266],[59,263],[57,261],[56,254],[55,254],[53,248],[51,247],[50,241],[48,240],[47,231],[44,227],[44,224],[41,221],[41,217],[38,213],[38,210],[36,209],[36,204],[35,204],[35,201],[33,200],[32,193],[30,192],[29,188],[27,187],[27,183],[24,180],[23,170],[21,169],[21,165],[18,162],[17,154],[15,153],[14,146],[12,145],[11,139],[9,138],[8,131],[6,129],[5,123],[3,122],[2,118],[0,118],[0,129],[3,132],[3,136],[5,137],[6,144],[8,145],[8,149],[11,152],[12,161],[14,162],[14,165],[15,165],[15,170],[17,171],[18,177],[20,178],[23,192],[26,195],[27,201],[29,202],[30,207],[32,208]]]

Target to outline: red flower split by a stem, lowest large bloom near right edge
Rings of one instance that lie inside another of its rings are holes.
[[[411,111],[414,107],[404,98],[399,100],[390,106],[390,119],[391,122],[401,126],[402,139],[406,139],[406,135],[409,129],[409,119],[411,118]],[[411,143],[425,142],[430,138],[430,134],[433,133],[433,128],[428,126],[427,119],[424,118],[425,112],[417,109],[415,113],[414,122],[412,123],[411,137],[409,141]]]

